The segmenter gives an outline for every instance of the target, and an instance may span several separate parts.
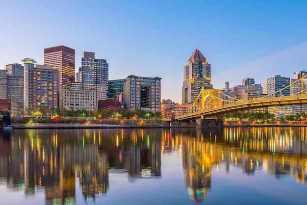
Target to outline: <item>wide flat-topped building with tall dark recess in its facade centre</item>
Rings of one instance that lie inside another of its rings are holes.
[[[161,77],[128,76],[124,81],[124,106],[160,111]]]

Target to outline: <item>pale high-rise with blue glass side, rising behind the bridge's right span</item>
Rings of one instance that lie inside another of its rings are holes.
[[[272,93],[275,93],[282,88],[290,85],[290,78],[289,77],[281,77],[280,75],[272,76],[267,78],[267,94],[270,95]],[[289,96],[290,95],[290,88],[284,89],[282,91],[283,96]],[[276,93],[274,97],[280,97],[280,93]]]

